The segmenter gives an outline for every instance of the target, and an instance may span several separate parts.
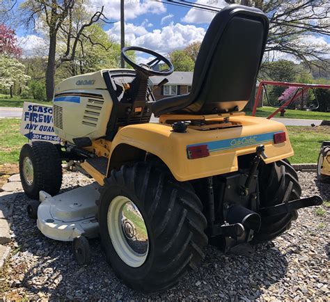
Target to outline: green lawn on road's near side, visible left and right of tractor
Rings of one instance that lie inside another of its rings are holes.
[[[21,120],[0,119],[0,164],[18,162],[19,150],[27,139],[19,133]],[[316,163],[322,141],[329,140],[329,127],[289,126],[288,132],[294,156],[292,164]]]

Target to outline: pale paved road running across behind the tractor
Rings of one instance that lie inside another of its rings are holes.
[[[22,108],[0,107],[0,118],[21,118]],[[302,120],[298,118],[273,118],[278,122],[282,122],[285,126],[318,126],[322,120]],[[158,122],[158,118],[152,115],[150,122]]]

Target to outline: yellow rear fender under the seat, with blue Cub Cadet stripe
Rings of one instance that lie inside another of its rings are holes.
[[[232,119],[231,119],[232,120]],[[120,152],[120,145],[134,147],[139,160],[146,152],[155,154],[164,161],[176,180],[184,182],[212,175],[220,175],[238,170],[237,157],[256,152],[256,146],[265,145],[265,163],[285,159],[293,155],[285,126],[279,122],[255,117],[237,117],[243,127],[198,131],[187,129],[186,133],[175,133],[171,125],[140,124],[120,129],[111,144],[108,173],[114,168]],[[287,141],[274,144],[274,133],[285,132]],[[207,144],[209,157],[189,159],[187,146]],[[140,150],[140,152],[138,151]],[[116,156],[115,156],[116,154]],[[130,156],[134,159],[134,156]],[[129,157],[129,158],[130,158]]]

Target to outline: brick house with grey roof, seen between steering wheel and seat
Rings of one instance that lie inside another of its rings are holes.
[[[157,87],[152,91],[155,99],[159,100],[171,95],[185,95],[190,93],[193,74],[194,72],[175,71],[167,77],[150,77],[149,85],[151,89],[154,86],[157,86],[157,84],[159,84],[163,79],[168,79],[168,83],[164,86]]]

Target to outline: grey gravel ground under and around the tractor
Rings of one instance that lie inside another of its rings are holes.
[[[299,173],[303,196],[320,194],[330,200],[330,185],[315,181],[315,173]],[[88,184],[79,173],[65,173],[63,189]],[[91,241],[92,263],[79,267],[71,244],[43,236],[26,215],[29,201],[16,193],[11,218],[13,255],[0,272],[0,300],[7,299],[215,299],[273,301],[330,300],[328,207],[302,209],[285,235],[256,248],[249,258],[224,255],[209,246],[197,271],[166,292],[139,294],[114,275],[100,241]],[[2,294],[1,294],[2,293]]]

